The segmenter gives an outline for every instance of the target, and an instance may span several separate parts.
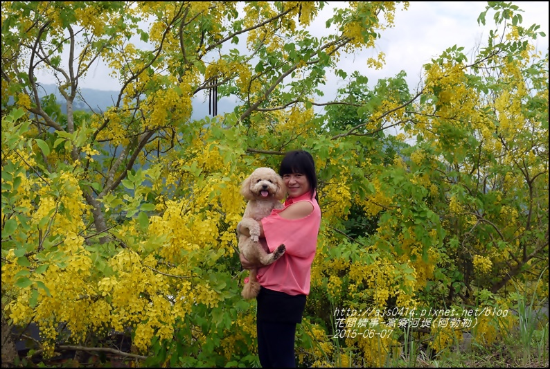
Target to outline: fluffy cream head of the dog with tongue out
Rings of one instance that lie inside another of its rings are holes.
[[[254,170],[240,186],[240,194],[247,200],[267,199],[268,197],[282,200],[285,198],[285,192],[283,179],[272,168]]]

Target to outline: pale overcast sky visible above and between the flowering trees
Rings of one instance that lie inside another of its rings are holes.
[[[548,50],[548,1],[515,1],[522,12],[522,26],[539,24],[547,36],[538,41],[538,49]],[[336,4],[330,2],[329,4]],[[408,10],[397,10],[394,28],[384,30],[377,42],[379,51],[386,55],[386,65],[382,70],[367,70],[366,58],[373,51],[364,51],[341,60],[340,67],[348,73],[358,70],[369,78],[373,86],[380,78],[396,75],[401,70],[407,73],[409,87],[414,89],[420,80],[422,65],[432,57],[440,55],[446,48],[457,45],[464,47],[465,55],[480,42],[485,44],[488,30],[495,28],[491,13],[486,18],[487,26],[477,24],[479,13],[485,10],[485,1],[411,1]],[[326,7],[323,11],[328,10]],[[321,24],[324,24],[322,21]],[[41,76],[44,77],[44,76]],[[40,80],[42,78],[39,77]],[[53,80],[42,80],[53,83]],[[328,83],[334,91],[334,84]],[[105,66],[96,63],[80,87],[116,91],[120,89],[116,80],[109,77]],[[328,96],[326,96],[328,98]],[[220,111],[221,113],[221,111]]]

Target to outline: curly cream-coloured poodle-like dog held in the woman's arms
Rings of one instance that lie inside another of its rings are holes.
[[[285,253],[285,245],[281,244],[273,253],[267,253],[258,242],[260,226],[256,221],[266,217],[273,209],[282,209],[281,200],[285,197],[285,183],[271,168],[258,168],[242,182],[240,194],[248,200],[245,214],[240,227],[248,228],[250,237],[237,230],[239,251],[249,262],[263,265],[272,264]],[[249,300],[255,298],[260,291],[260,283],[256,280],[257,269],[250,270],[249,282],[242,289],[242,297]]]

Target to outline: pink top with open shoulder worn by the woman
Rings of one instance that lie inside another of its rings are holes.
[[[298,201],[309,201],[313,211],[300,219],[285,219],[278,215],[284,210],[272,210],[262,219],[265,239],[269,251],[273,252],[280,244],[286,251],[273,264],[258,269],[258,282],[265,288],[281,291],[289,295],[310,293],[311,264],[317,249],[317,235],[321,226],[321,208],[310,192],[285,201],[285,208]]]

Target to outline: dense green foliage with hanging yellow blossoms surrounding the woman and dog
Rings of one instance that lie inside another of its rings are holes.
[[[490,345],[516,323],[499,311],[547,298],[548,54],[516,6],[490,2],[479,22],[499,29],[475,55],[443,51],[416,91],[404,73],[369,87],[380,53],[364,75],[336,71],[333,101],[327,71],[407,3],[350,2],[326,35],[307,28],[322,1],[1,6],[2,308],[39,326],[30,355],[125,332],[143,365],[257,364],[238,188],[297,148],[316,158],[323,212],[301,365],[382,366],[409,332],[434,352],[463,332]],[[118,98],[75,111],[97,60]],[[42,70],[66,114],[39,98]],[[235,109],[192,120],[213,87]]]

